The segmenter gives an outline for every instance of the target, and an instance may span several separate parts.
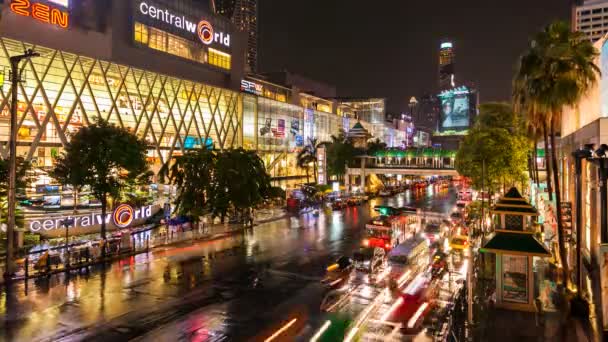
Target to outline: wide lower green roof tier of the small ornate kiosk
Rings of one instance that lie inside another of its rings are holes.
[[[520,254],[550,257],[545,246],[532,233],[497,230],[490,241],[479,250],[482,253]]]

